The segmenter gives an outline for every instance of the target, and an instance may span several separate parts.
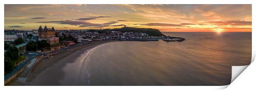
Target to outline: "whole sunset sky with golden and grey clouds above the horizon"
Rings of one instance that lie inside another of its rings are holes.
[[[251,32],[251,4],[5,4],[5,29]]]

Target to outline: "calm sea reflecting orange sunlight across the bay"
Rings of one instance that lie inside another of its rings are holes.
[[[99,45],[59,68],[63,76],[56,79],[58,85],[228,85],[232,66],[251,63],[251,32],[163,34],[185,41]]]

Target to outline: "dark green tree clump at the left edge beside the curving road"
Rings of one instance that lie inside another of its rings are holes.
[[[25,56],[19,56],[19,49],[5,42],[5,74],[11,72],[17,63],[20,63]]]

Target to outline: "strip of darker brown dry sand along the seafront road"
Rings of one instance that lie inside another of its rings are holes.
[[[52,56],[52,58],[45,60],[45,61],[40,61],[31,71],[30,75],[28,76],[28,78],[26,79],[26,82],[19,82],[19,81],[14,81],[11,85],[29,85],[29,83],[31,81],[33,81],[33,79],[36,78],[36,76],[38,76],[38,74],[40,74],[41,72],[43,72],[45,69],[49,68],[51,65],[57,63],[58,61],[66,58],[67,56],[73,54],[74,52],[77,52],[78,50],[90,50],[91,48],[97,46],[97,45],[101,45],[104,43],[109,43],[109,42],[115,42],[116,40],[111,40],[111,41],[94,41],[82,46],[77,46],[77,47],[73,47],[69,50],[60,52],[58,54],[55,54]],[[79,52],[78,52],[79,53]],[[76,55],[76,54],[75,54]],[[74,56],[70,56],[71,58],[77,58]],[[79,56],[78,56],[79,57]],[[71,59],[71,58],[66,58],[66,59]],[[69,60],[71,61],[71,60]],[[62,64],[66,64],[69,62],[65,62],[63,61]],[[58,72],[58,71],[56,71]],[[40,83],[40,82],[38,82]],[[57,84],[57,83],[56,83]]]

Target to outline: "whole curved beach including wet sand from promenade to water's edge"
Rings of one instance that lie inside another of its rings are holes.
[[[55,54],[55,55],[53,55],[52,58],[50,58],[48,60],[40,61],[33,68],[32,72],[26,79],[26,82],[14,81],[11,85],[61,85],[58,80],[61,80],[64,78],[64,72],[61,70],[63,67],[65,67],[68,63],[76,62],[77,58],[80,57],[81,53],[88,52],[88,50],[90,50],[93,47],[96,47],[98,45],[101,45],[104,43],[109,43],[109,42],[114,42],[114,41],[115,40],[95,41],[95,42],[91,42],[91,43],[88,43],[88,44],[85,44],[82,46],[73,47],[69,50]],[[81,62],[81,61],[78,61],[77,64],[79,64],[79,62]],[[57,68],[51,68],[54,65],[58,65]],[[83,63],[80,65],[83,65]],[[50,70],[47,70],[50,72],[44,72],[46,69],[50,69]],[[76,71],[76,70],[79,70],[79,69],[74,68],[74,71]],[[42,72],[44,72],[44,73],[40,74]],[[74,72],[71,72],[71,73],[74,73]],[[77,71],[76,73],[81,73],[81,72]],[[40,78],[41,75],[46,77],[46,79]],[[45,76],[45,75],[47,75],[47,76]],[[34,79],[37,79],[37,80],[33,81]],[[72,83],[69,83],[69,85],[79,85],[79,82],[76,82],[74,84],[72,84]]]

